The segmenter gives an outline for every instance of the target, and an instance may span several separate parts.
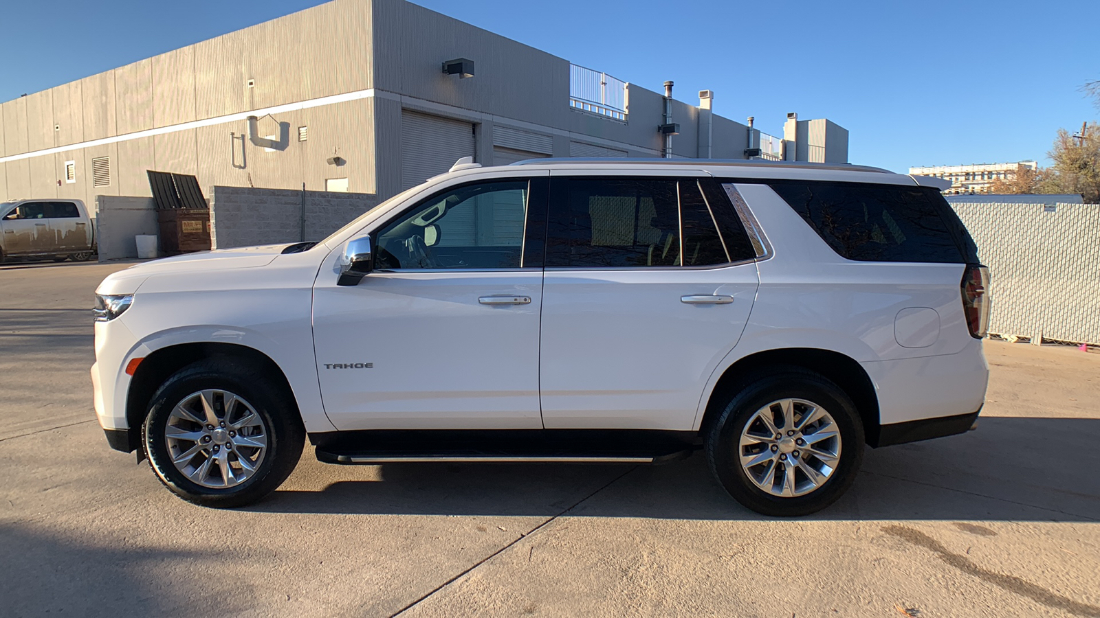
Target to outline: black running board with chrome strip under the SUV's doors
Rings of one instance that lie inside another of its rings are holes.
[[[337,431],[310,434],[333,464],[630,463],[684,459],[694,432],[612,430]]]

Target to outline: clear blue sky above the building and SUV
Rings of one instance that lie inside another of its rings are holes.
[[[2,0],[0,100],[232,32],[315,0]],[[1036,158],[1059,128],[1100,117],[1096,0],[418,4],[782,133],[787,112],[850,131],[849,159],[911,165]],[[662,14],[673,13],[668,18]]]

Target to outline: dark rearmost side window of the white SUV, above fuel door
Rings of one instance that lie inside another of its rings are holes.
[[[771,188],[848,260],[966,263],[957,234],[922,187],[783,181]]]

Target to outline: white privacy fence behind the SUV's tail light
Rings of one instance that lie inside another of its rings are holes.
[[[989,266],[989,332],[1100,344],[1100,205],[953,203]]]

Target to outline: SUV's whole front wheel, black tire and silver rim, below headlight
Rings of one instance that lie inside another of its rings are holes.
[[[153,395],[142,428],[153,472],[185,500],[239,507],[275,490],[305,430],[285,388],[234,358],[199,361]]]

